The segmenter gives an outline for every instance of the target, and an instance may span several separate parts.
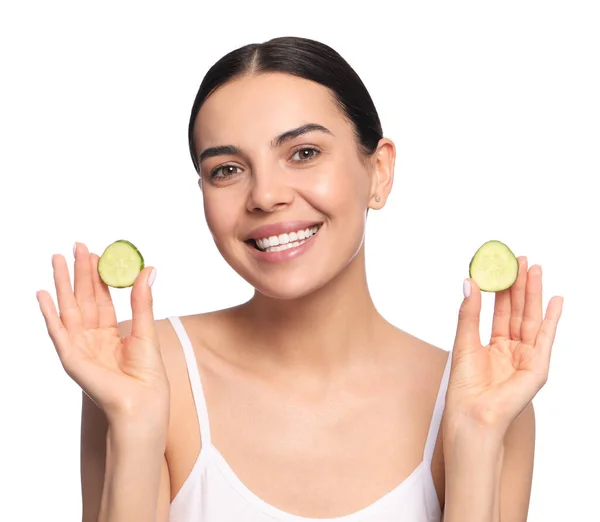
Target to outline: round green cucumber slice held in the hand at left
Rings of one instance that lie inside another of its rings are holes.
[[[106,247],[98,260],[100,279],[113,288],[128,288],[144,268],[144,258],[140,251],[124,239],[119,239]]]

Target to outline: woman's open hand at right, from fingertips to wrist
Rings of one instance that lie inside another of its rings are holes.
[[[490,343],[479,336],[481,291],[472,279],[460,308],[445,417],[504,434],[548,378],[550,353],[563,298],[553,297],[542,316],[542,269],[519,259],[515,284],[496,294]]]

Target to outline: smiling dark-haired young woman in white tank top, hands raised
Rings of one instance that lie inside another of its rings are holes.
[[[98,256],[53,257],[38,300],[84,390],[83,520],[513,522],[527,517],[531,400],[562,311],[519,258],[496,295],[464,283],[453,350],[389,324],[364,233],[392,188],[394,144],[351,67],[315,41],[237,49],[207,73],[189,145],[214,241],[256,292],[155,321],[152,267],[117,324]],[[442,415],[443,414],[443,415]]]

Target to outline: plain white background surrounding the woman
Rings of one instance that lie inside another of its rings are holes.
[[[368,223],[375,301],[453,343],[475,250],[506,242],[565,297],[535,400],[530,521],[598,512],[600,16],[597,2],[6,2],[0,12],[2,519],[78,520],[80,392],[35,299],[50,256],[136,243],[157,267],[157,317],[251,289],[208,234],[188,156],[200,81],[226,52],[296,35],[337,49],[398,147]],[[391,6],[394,5],[392,8]],[[119,319],[129,291],[113,292]],[[487,339],[493,296],[484,294]]]

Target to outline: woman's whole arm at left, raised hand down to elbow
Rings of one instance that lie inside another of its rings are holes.
[[[124,338],[98,256],[82,243],[73,253],[74,285],[64,256],[52,256],[58,309],[49,292],[36,295],[61,364],[85,394],[83,518],[156,522],[158,509],[162,522],[170,496],[163,478],[170,385],[152,310],[154,268],[133,284],[131,335]]]

